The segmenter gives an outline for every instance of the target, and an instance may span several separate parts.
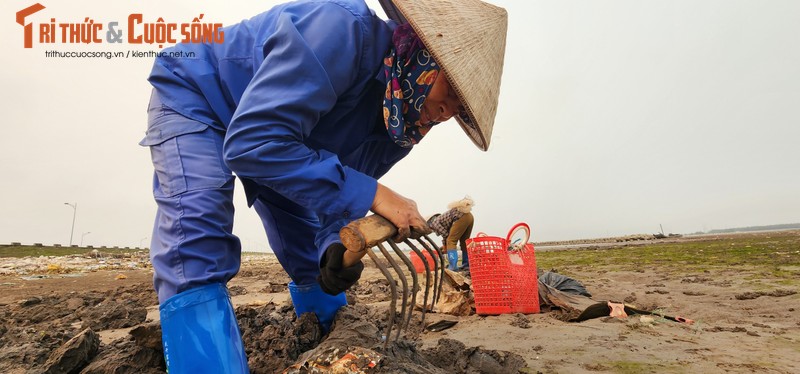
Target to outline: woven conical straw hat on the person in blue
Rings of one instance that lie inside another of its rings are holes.
[[[446,71],[466,109],[456,121],[481,150],[492,138],[506,50],[508,13],[480,0],[379,0],[386,15],[414,28]]]

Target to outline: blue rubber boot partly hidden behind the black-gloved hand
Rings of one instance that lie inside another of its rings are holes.
[[[333,318],[336,317],[339,308],[347,305],[344,292],[336,296],[328,295],[322,291],[319,283],[298,286],[294,282],[289,282],[289,296],[292,297],[294,312],[298,317],[308,312],[317,315],[323,334],[327,334],[331,329]]]

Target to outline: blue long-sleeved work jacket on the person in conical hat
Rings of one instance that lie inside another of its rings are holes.
[[[148,80],[197,122],[151,127],[142,144],[211,126],[226,132],[224,159],[249,204],[267,187],[323,226],[362,217],[376,179],[409,151],[383,125],[393,28],[361,0],[301,0],[225,27],[224,43],[167,48],[174,56],[158,57]]]

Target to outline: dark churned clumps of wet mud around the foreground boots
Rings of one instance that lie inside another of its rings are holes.
[[[326,364],[323,358],[341,359],[348,352],[356,354],[347,358],[350,369],[344,372],[354,373],[508,373],[525,366],[519,355],[467,348],[450,339],[420,349],[419,313],[399,339],[392,333],[384,349],[386,310],[364,303],[385,299],[384,286],[365,282],[350,292],[356,305],[340,311],[328,335],[323,335],[316,316],[297,318],[291,305],[237,307],[251,372],[325,372],[332,362]],[[234,288],[233,293],[246,291]],[[161,328],[157,321],[146,320],[145,306],[156,304],[149,285],[135,285],[31,296],[0,305],[0,372],[163,373]],[[127,328],[130,331],[116,340],[100,340],[100,331]]]

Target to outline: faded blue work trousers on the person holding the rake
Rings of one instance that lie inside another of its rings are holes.
[[[163,105],[154,91],[148,136],[158,204],[150,259],[160,303],[185,290],[226,284],[239,271],[241,243],[233,235],[235,177],[222,158],[225,134]],[[259,187],[254,207],[283,268],[298,285],[316,282],[317,215]]]

